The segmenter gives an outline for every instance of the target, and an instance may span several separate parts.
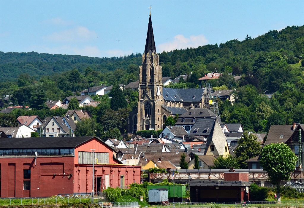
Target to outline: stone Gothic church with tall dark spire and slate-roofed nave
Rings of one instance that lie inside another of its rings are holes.
[[[165,128],[169,116],[184,114],[191,108],[203,108],[204,88],[163,88],[162,68],[156,53],[151,14],[142,65],[139,67],[139,97],[137,109],[129,114],[127,132],[155,131]]]

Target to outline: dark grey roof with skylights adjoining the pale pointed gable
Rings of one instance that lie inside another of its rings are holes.
[[[212,127],[214,122],[216,121],[215,118],[203,118],[203,119],[198,119],[195,124],[192,126],[190,130],[190,135],[202,135],[207,137],[210,135]],[[206,131],[206,132],[204,132]]]

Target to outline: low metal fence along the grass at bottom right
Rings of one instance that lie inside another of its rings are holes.
[[[275,201],[264,202],[186,202],[186,203],[157,203],[157,208],[199,208],[199,207],[304,207],[303,200],[296,201],[281,201],[277,203]]]

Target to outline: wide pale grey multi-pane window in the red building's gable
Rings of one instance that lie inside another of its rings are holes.
[[[97,160],[95,160],[95,158]],[[78,152],[78,164],[109,164],[109,152]]]

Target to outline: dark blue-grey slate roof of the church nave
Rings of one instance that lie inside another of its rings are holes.
[[[163,87],[165,101],[199,102],[202,100],[204,88],[172,89]]]

